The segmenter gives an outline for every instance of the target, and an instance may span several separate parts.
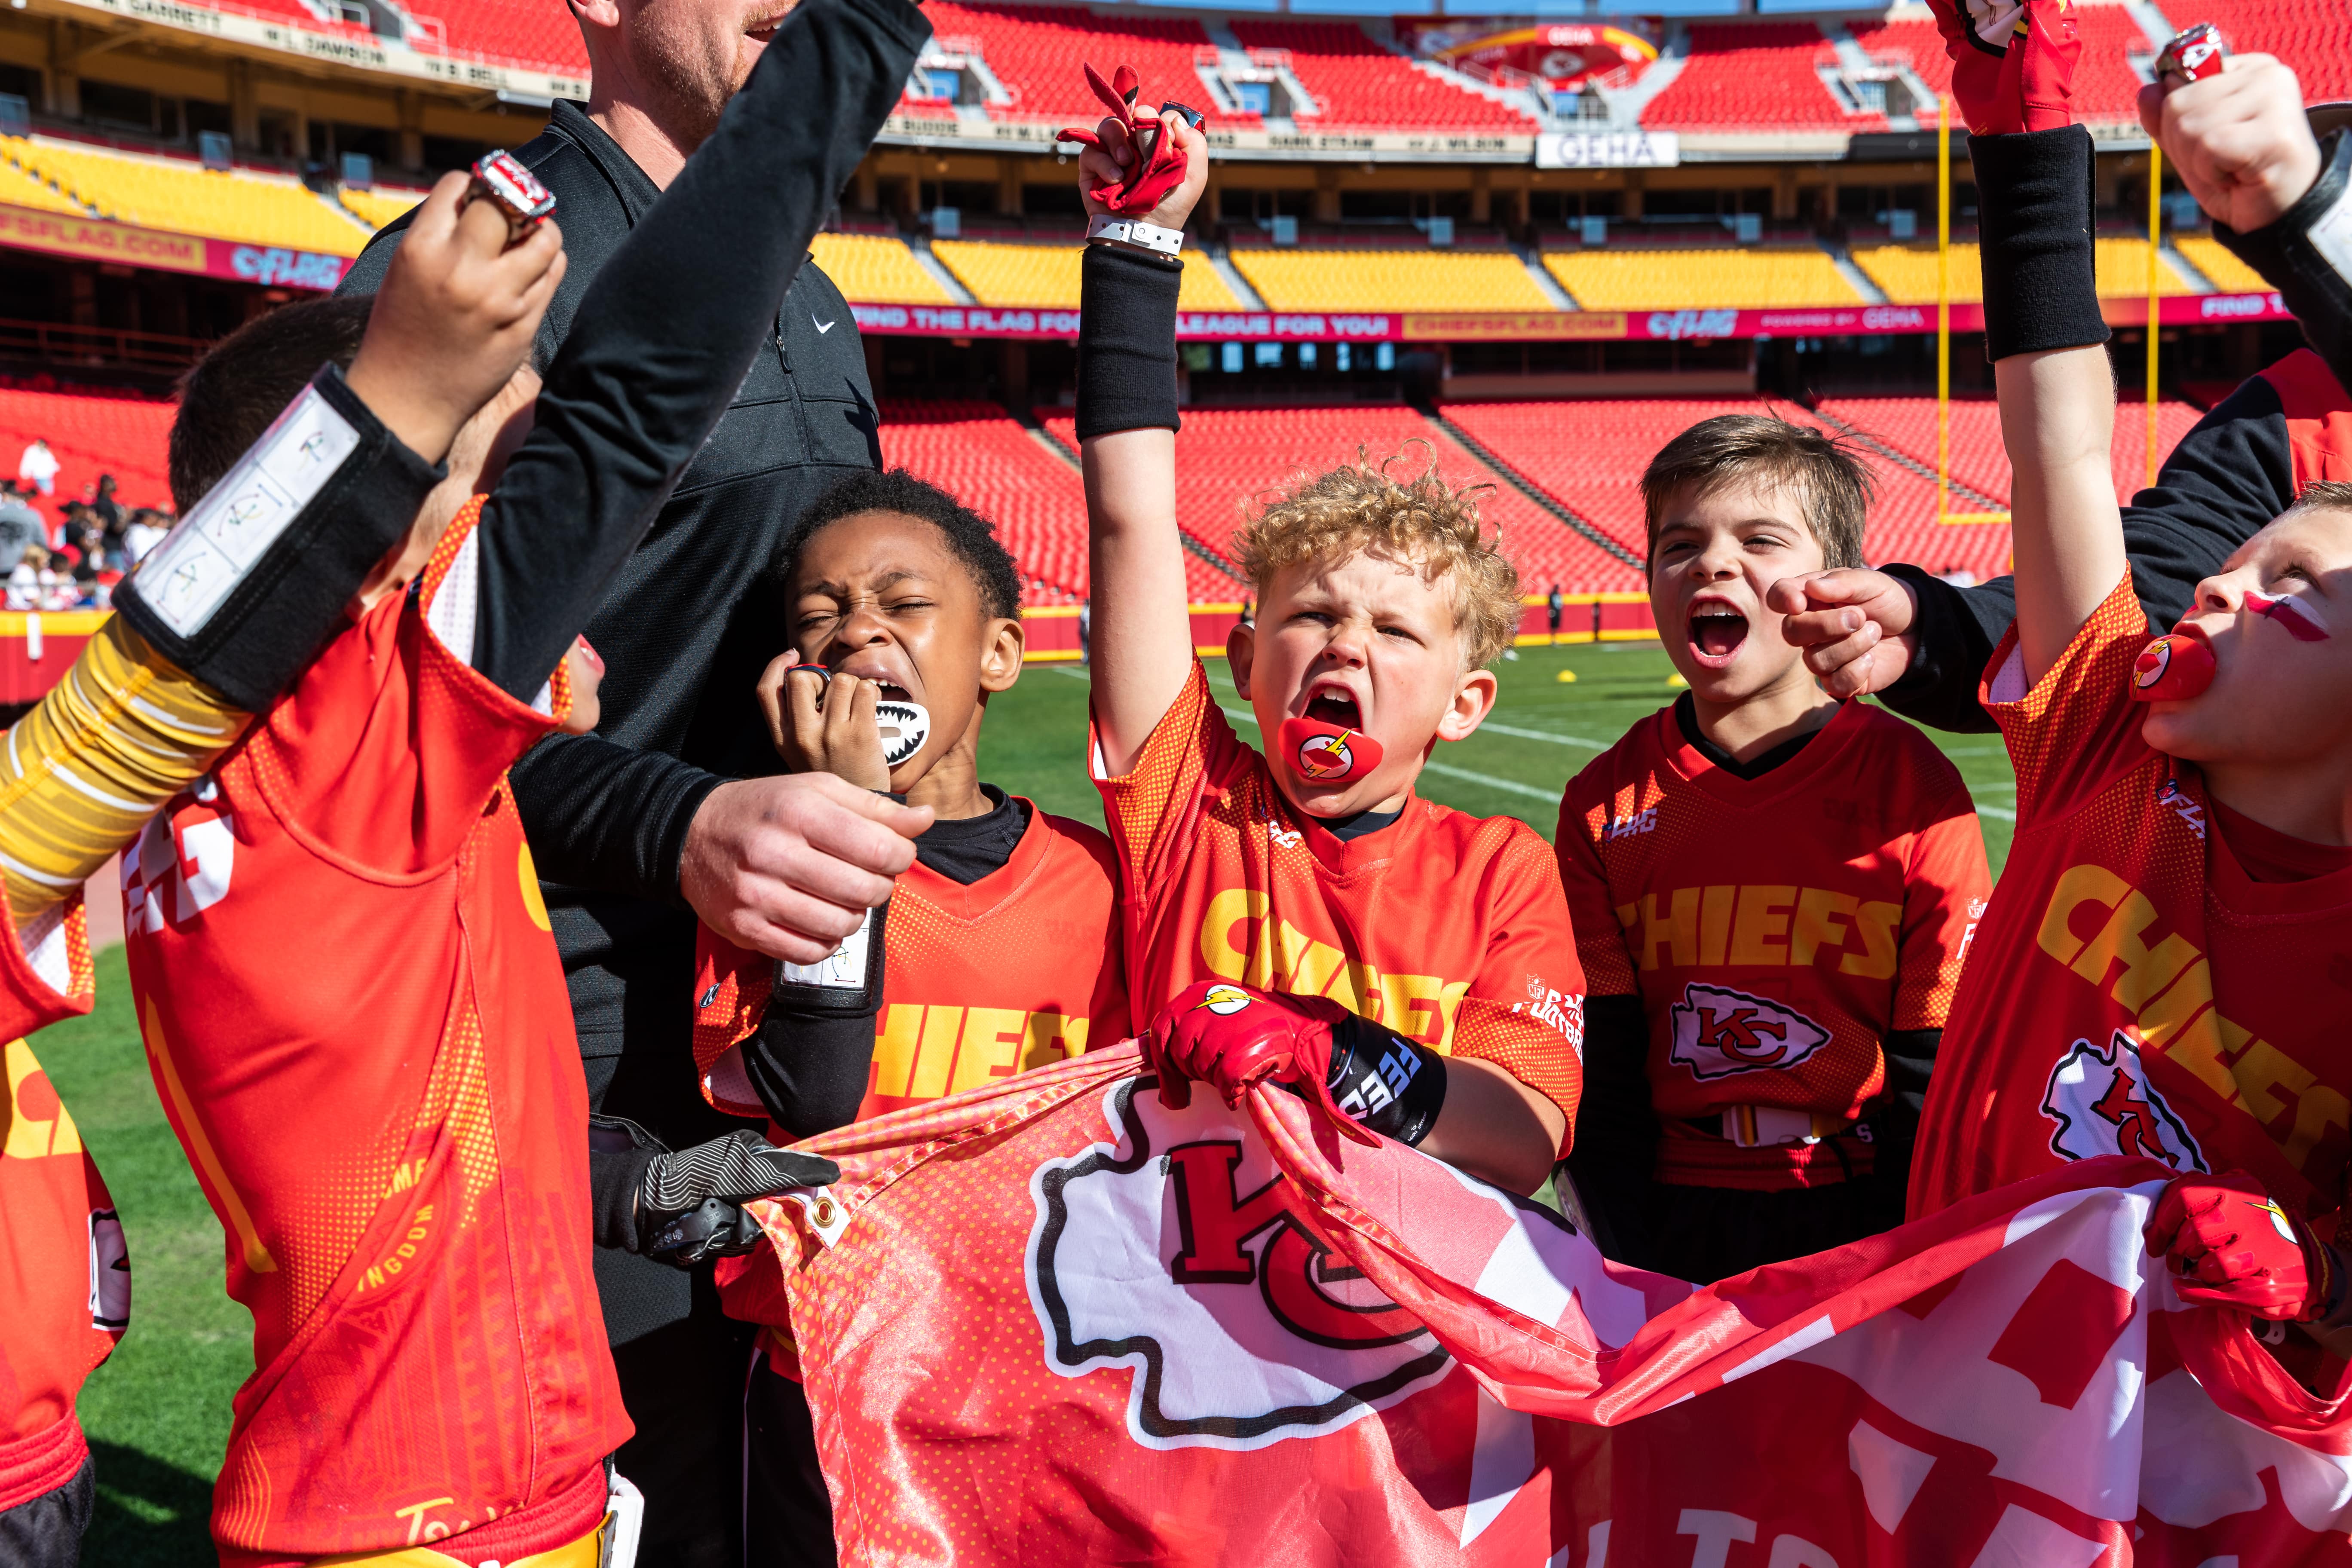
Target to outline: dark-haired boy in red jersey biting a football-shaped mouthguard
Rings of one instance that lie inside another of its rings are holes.
[[[786,766],[929,806],[931,827],[830,976],[701,933],[710,1103],[783,1143],[1127,1039],[1110,839],[978,776],[988,698],[1021,677],[1021,576],[995,529],[906,470],[851,475],[793,524],[767,588],[793,637],[760,682]],[[746,1467],[748,1559],[826,1561],[809,1408],[774,1340]]]

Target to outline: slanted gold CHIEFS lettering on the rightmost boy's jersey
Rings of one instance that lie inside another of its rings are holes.
[[[2091,924],[2096,917],[2096,926]],[[2070,865],[2042,905],[2042,952],[2105,990],[2133,1016],[2147,1048],[2272,1131],[2298,1171],[2328,1138],[2352,1133],[2352,1100],[2213,1006],[2213,966],[2180,931],[2150,940],[2157,905],[2105,865]],[[2089,931],[2089,933],[2086,933]],[[2112,976],[2112,980],[2110,980]]]

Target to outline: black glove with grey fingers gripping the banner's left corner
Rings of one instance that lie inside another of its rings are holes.
[[[786,1187],[828,1187],[842,1168],[793,1154],[741,1128],[673,1154],[635,1121],[588,1117],[588,1185],[595,1241],[680,1269],[736,1258],[760,1244],[748,1199]]]

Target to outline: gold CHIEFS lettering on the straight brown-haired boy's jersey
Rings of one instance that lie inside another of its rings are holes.
[[[1903,905],[1830,889],[1738,884],[1642,893],[1616,907],[1642,971],[1658,952],[1675,969],[1762,964],[1806,969],[1837,954],[1837,973],[1893,980],[1903,959]]]

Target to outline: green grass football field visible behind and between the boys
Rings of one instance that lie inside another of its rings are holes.
[[[1228,710],[1244,712],[1223,663],[1209,670]],[[1519,816],[1550,837],[1569,773],[1672,701],[1670,675],[1649,642],[1522,649],[1501,665],[1494,719],[1439,748],[1423,792],[1463,811]],[[2016,806],[2009,757],[1994,736],[1938,741],[1976,792],[1999,872]],[[990,705],[981,764],[988,780],[1047,811],[1101,823],[1084,750],[1084,670],[1030,665]],[[252,1366],[252,1321],[221,1293],[221,1229],[155,1103],[120,947],[99,954],[96,1011],[45,1032],[35,1051],[106,1171],[132,1251],[132,1331],[82,1389],[82,1425],[99,1458],[85,1561],[198,1568],[214,1561],[205,1516],[228,1399]]]

